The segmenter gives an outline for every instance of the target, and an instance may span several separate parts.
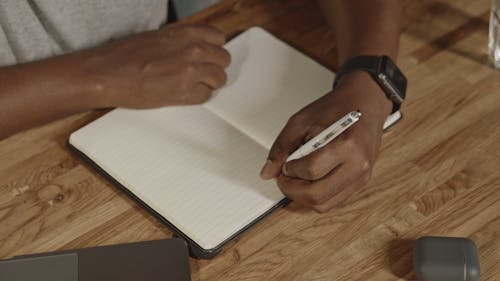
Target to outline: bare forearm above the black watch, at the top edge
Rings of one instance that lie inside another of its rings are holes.
[[[358,55],[388,55],[396,59],[399,45],[400,0],[318,0],[335,30],[338,63]]]

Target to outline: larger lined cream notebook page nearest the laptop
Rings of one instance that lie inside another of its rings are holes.
[[[205,249],[284,198],[258,176],[267,150],[201,106],[116,109],[70,143]]]

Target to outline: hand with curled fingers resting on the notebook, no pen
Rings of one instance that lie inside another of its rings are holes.
[[[88,50],[83,77],[100,107],[196,104],[226,82],[224,33],[172,25]]]

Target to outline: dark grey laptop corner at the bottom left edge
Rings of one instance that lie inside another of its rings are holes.
[[[8,281],[188,281],[189,254],[182,239],[148,241],[26,255],[0,261]]]

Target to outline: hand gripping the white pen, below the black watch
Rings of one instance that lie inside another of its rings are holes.
[[[290,118],[271,147],[261,177],[276,178],[288,198],[318,212],[328,211],[370,179],[391,108],[367,73],[343,76],[332,92]],[[353,110],[363,113],[354,126],[319,150],[285,164],[300,145]]]

